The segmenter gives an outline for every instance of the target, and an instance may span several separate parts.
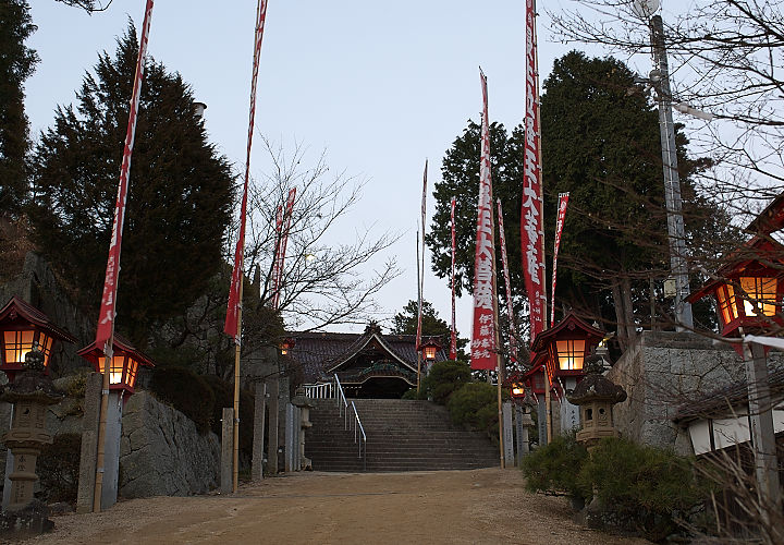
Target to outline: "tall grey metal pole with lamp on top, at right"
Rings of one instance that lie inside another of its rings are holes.
[[[678,330],[691,329],[691,305],[686,301],[689,293],[688,269],[686,266],[686,229],[681,202],[681,178],[677,171],[677,147],[675,126],[672,117],[672,92],[670,89],[670,69],[664,46],[664,22],[661,15],[654,15],[659,0],[634,0],[632,10],[648,21],[651,31],[651,47],[656,69],[650,73],[650,82],[657,92],[659,102],[659,129],[662,147],[662,168],[664,171],[664,204],[667,214],[667,235],[670,238],[670,269],[675,280],[675,320]]]

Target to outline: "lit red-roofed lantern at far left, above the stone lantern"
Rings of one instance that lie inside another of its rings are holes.
[[[46,314],[19,298],[11,298],[0,311],[0,371],[10,382],[24,371],[25,355],[37,344],[44,354],[45,374],[49,373],[49,356],[56,340],[76,342],[76,339],[54,326]]]

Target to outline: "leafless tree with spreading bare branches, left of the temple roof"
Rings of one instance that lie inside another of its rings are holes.
[[[283,145],[262,142],[271,171],[249,190],[245,251],[248,277],[258,267],[261,300],[272,296],[275,215],[296,187],[279,304],[287,327],[314,330],[367,323],[377,311],[373,296],[399,275],[393,258],[377,264],[399,235],[387,231],[375,237],[355,229],[351,240],[336,242],[365,182],[344,170],[332,173],[326,152],[305,167],[307,149],[302,144],[287,153]]]

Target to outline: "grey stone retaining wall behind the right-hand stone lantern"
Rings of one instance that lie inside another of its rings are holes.
[[[780,365],[780,353],[771,353],[769,362]],[[637,443],[690,455],[688,434],[672,423],[678,407],[745,377],[728,344],[691,332],[644,331],[608,373],[628,395],[613,407],[615,425]]]

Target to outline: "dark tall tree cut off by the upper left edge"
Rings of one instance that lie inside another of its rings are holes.
[[[36,31],[25,0],[0,0],[0,216],[16,215],[27,195],[29,123],[24,82],[38,56],[24,45]]]

